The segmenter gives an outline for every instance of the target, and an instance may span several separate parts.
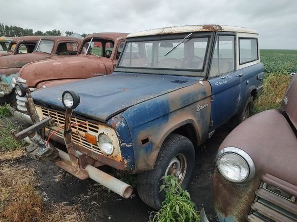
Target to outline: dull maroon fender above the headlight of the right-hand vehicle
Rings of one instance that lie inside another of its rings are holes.
[[[258,113],[235,128],[223,141],[224,147],[247,152],[256,176],[271,174],[297,185],[297,138],[286,118],[277,110]]]

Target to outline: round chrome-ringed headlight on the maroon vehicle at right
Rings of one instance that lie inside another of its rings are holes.
[[[232,182],[247,182],[255,174],[255,166],[250,156],[236,147],[220,150],[216,165],[221,175]]]

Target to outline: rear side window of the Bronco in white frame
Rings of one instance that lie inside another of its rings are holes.
[[[239,64],[258,60],[257,39],[239,38]]]

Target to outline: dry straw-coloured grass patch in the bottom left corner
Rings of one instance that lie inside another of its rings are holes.
[[[78,206],[49,203],[36,190],[34,170],[3,163],[0,165],[1,222],[83,222]]]

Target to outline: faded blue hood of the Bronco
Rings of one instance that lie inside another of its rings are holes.
[[[184,82],[173,83],[174,80]],[[73,90],[81,99],[74,113],[106,122],[133,105],[199,80],[201,78],[198,77],[114,72],[111,75],[39,89],[32,93],[32,97],[39,105],[64,109],[61,95],[65,90]]]

